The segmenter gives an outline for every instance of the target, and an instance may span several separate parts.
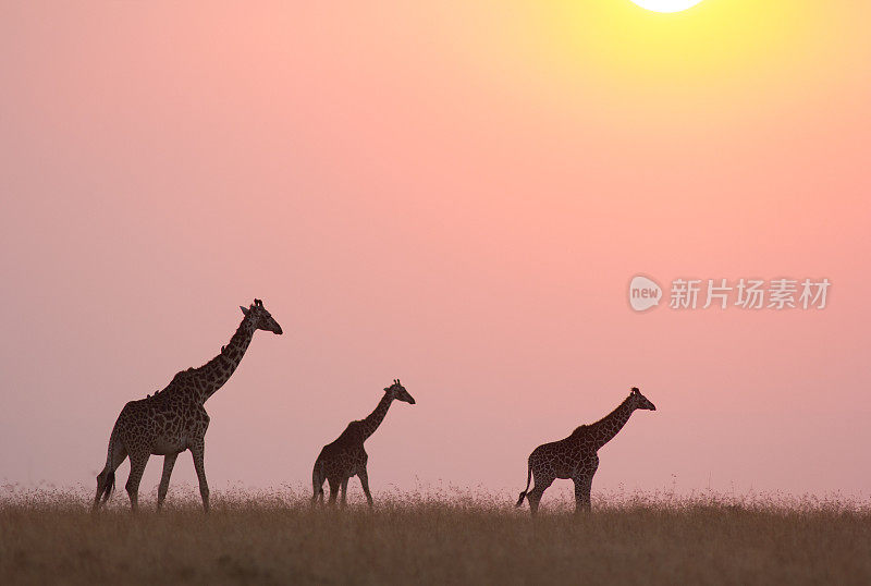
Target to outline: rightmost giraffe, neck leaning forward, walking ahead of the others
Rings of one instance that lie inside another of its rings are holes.
[[[542,443],[529,454],[526,476],[526,490],[520,492],[517,506],[529,500],[532,516],[538,513],[541,496],[556,478],[571,478],[575,483],[575,512],[590,510],[590,489],[592,476],[599,467],[599,449],[623,429],[629,415],[637,408],[657,411],[655,405],[633,387],[623,403],[609,415],[594,424],[581,425],[571,436],[560,441]],[[535,475],[536,485],[529,490],[529,481]]]

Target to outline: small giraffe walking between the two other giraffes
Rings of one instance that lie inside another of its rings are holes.
[[[415,404],[414,398],[408,394],[400,379],[395,379],[393,384],[384,388],[384,396],[368,417],[361,422],[351,422],[335,441],[323,447],[315,461],[315,469],[311,472],[311,484],[315,489],[315,495],[311,497],[312,505],[318,501],[323,503],[323,481],[327,480],[330,484],[330,504],[335,504],[335,497],[341,486],[342,506],[345,506],[347,481],[356,475],[360,479],[369,508],[372,506],[369,475],[366,472],[366,462],[369,460],[369,455],[364,450],[363,442],[375,434],[375,430],[384,420],[384,415],[388,414],[390,404],[394,400],[404,401],[410,405]]]

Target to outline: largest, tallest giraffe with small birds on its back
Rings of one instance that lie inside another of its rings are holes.
[[[263,307],[262,301],[254,300],[249,307],[240,306],[240,309],[245,317],[218,356],[199,368],[182,370],[162,391],[139,401],[131,401],[121,410],[109,437],[106,467],[97,476],[93,512],[99,509],[100,498],[103,503],[109,500],[114,489],[115,469],[127,456],[130,477],[126,490],[131,509],[136,512],[139,481],[151,455],[163,456],[163,475],[157,492],[157,508],[160,510],[167,498],[175,459],[185,450],[191,450],[194,456],[203,506],[209,512],[209,486],[203,464],[209,416],[204,403],[233,375],[255,331],[282,333],[281,326]]]

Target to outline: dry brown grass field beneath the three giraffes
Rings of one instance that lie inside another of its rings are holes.
[[[871,510],[843,500],[617,495],[576,517],[545,499],[533,522],[508,495],[381,495],[370,513],[214,491],[206,516],[173,492],[163,514],[115,496],[94,518],[85,493],[8,488],[0,583],[871,583]]]

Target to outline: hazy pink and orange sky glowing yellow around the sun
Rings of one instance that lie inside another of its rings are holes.
[[[214,490],[309,486],[398,377],[417,404],[367,442],[375,491],[519,491],[536,445],[637,386],[658,411],[601,450],[593,498],[868,497],[869,22],[855,0],[0,4],[0,480],[96,486],[123,405],[260,297],[284,335],[206,405]],[[822,310],[636,313],[639,273],[833,284]],[[173,486],[195,480],[183,454]]]

